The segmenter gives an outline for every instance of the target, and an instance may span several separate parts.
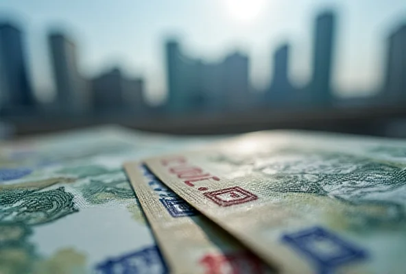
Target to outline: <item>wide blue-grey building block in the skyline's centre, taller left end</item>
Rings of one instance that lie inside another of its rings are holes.
[[[222,62],[208,63],[184,55],[174,40],[165,49],[169,111],[228,111],[248,104],[247,55],[235,52]]]

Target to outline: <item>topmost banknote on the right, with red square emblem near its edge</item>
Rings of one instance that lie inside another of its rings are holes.
[[[404,140],[259,132],[146,163],[281,273],[405,273]]]

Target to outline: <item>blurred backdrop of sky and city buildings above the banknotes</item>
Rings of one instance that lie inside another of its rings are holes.
[[[2,0],[3,137],[406,136],[404,0]]]

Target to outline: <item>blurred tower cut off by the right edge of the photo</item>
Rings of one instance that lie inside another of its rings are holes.
[[[384,96],[390,101],[406,100],[406,24],[388,39]]]

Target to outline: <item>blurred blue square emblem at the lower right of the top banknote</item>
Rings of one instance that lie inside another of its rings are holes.
[[[285,234],[282,240],[313,260],[322,274],[331,273],[342,264],[367,258],[366,251],[322,227]]]

